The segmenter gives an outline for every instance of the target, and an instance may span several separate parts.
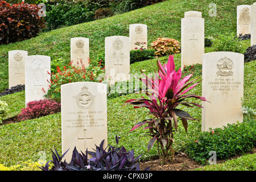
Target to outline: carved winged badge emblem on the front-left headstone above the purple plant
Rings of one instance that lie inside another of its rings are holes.
[[[93,105],[94,97],[90,92],[88,92],[88,88],[83,86],[82,91],[77,95],[73,96],[76,99],[76,104],[81,109],[89,109]]]

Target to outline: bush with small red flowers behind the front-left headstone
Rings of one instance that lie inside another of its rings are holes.
[[[51,75],[51,80],[48,80],[49,86],[47,93],[45,92],[45,89],[42,89],[42,91],[46,93],[45,97],[50,97],[53,100],[60,101],[60,88],[63,84],[79,81],[102,81],[98,78],[98,75],[104,72],[104,67],[101,66],[101,61],[98,63],[98,66],[94,67],[89,64],[86,68],[82,61],[80,62],[81,67],[78,66],[79,61],[77,61],[77,64],[72,64],[71,61],[67,67],[63,67],[63,70],[56,66],[56,73],[48,73]]]

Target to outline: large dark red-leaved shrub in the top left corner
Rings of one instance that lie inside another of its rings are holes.
[[[37,5],[0,1],[0,44],[33,38],[45,27]]]

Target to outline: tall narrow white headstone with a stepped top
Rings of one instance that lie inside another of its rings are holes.
[[[204,18],[199,11],[185,12],[181,18],[181,69],[202,64],[204,53]]]

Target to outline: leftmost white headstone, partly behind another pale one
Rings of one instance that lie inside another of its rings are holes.
[[[25,57],[27,51],[9,51],[9,88],[25,84]]]

